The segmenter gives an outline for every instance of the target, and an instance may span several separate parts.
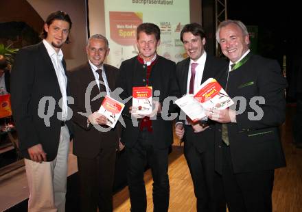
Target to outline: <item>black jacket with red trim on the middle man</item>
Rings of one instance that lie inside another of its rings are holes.
[[[117,81],[117,87],[124,90],[120,95],[122,99],[132,96],[132,87],[146,86],[147,68],[145,65],[139,63],[137,56],[122,62],[119,72],[120,75]],[[160,91],[159,102],[163,106],[163,110],[166,114],[167,108],[169,108],[169,112],[176,109],[175,105],[171,102],[170,104],[168,104],[168,102],[163,104],[163,101],[168,96],[179,96],[174,62],[158,55],[154,66],[152,66],[149,85],[152,86],[153,94],[156,90]],[[132,99],[126,103],[124,108],[123,117],[126,123],[126,129],[123,129],[121,133],[121,141],[125,142],[126,146],[130,148],[137,142],[137,137],[139,136],[139,127],[133,126],[129,114],[129,107],[131,105]],[[154,146],[156,148],[167,148],[172,144],[173,133],[171,120],[163,120],[161,114],[158,114],[156,120],[152,120],[152,129]]]

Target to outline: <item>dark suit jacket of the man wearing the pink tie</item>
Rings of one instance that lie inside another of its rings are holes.
[[[181,96],[187,94],[187,77],[188,77],[188,70],[189,70],[189,62],[190,62],[190,58],[188,57],[187,59],[184,59],[183,61],[178,62],[178,64],[176,64],[176,79],[177,79],[178,87],[181,90]],[[218,59],[217,57],[213,57],[212,55],[207,54],[201,83],[205,82],[210,77],[213,77],[219,82],[221,77],[223,77],[223,73],[227,65],[228,63],[223,59]],[[215,138],[214,137],[215,122],[211,122],[209,120],[208,123],[209,123],[209,128],[207,130],[202,131],[200,133],[194,133],[193,136],[194,140],[186,140],[185,139],[186,136],[185,136],[184,142],[190,142],[193,146],[198,148],[200,152],[209,149],[210,146],[214,147],[213,140]],[[183,120],[183,124],[185,124],[184,120]],[[185,131],[185,133],[189,133],[189,132],[191,131]]]

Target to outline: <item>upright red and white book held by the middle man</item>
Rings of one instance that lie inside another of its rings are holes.
[[[152,87],[132,88],[132,114],[150,115],[152,112]]]

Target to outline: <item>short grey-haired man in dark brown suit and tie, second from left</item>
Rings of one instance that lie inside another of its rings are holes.
[[[115,90],[118,69],[104,64],[109,53],[108,40],[104,36],[91,36],[86,53],[89,61],[70,72],[71,96],[74,98],[72,120],[75,125],[73,154],[78,157],[82,211],[97,211],[97,207],[99,211],[113,211],[119,127],[108,129],[107,118],[97,111],[104,96],[110,96]],[[101,92],[102,98],[92,100]],[[88,117],[80,113],[87,113]],[[103,129],[99,128],[101,126]]]

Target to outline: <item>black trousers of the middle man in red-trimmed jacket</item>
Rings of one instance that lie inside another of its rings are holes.
[[[169,208],[170,185],[167,175],[169,148],[154,148],[152,137],[152,133],[141,131],[135,146],[126,147],[127,177],[131,211],[133,212],[143,212],[147,209],[146,188],[143,181],[143,174],[147,164],[150,165],[154,181],[154,212],[165,212]]]

